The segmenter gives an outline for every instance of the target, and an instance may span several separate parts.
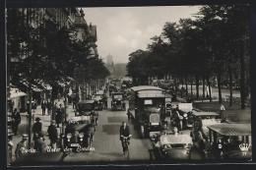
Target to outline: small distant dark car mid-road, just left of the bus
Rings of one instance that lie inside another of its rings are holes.
[[[111,109],[117,110],[122,109],[126,110],[123,92],[112,92],[112,101],[111,101]]]

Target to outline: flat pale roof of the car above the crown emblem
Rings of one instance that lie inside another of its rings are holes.
[[[251,136],[251,124],[218,124],[207,127],[222,136]]]

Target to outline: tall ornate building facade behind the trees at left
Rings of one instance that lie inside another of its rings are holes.
[[[44,22],[46,21],[52,21],[55,23],[58,28],[71,28],[74,27],[76,30],[77,38],[80,40],[85,40],[86,37],[89,37],[92,35],[94,40],[91,42],[93,43],[93,47],[91,48],[92,54],[97,55],[96,50],[96,26],[89,27],[87,25],[87,22],[85,20],[85,14],[84,11],[78,8],[8,8],[6,10],[6,16],[7,16],[7,61],[8,61],[8,78],[7,78],[7,92],[8,92],[8,98],[14,96],[12,94],[12,88],[18,87],[19,89],[22,89],[24,92],[27,92],[26,85],[11,85],[12,79],[15,80],[11,73],[16,72],[16,65],[18,65],[21,61],[20,58],[26,58],[30,51],[28,51],[26,47],[25,42],[21,42],[20,45],[17,47],[12,45],[12,39],[15,39],[17,36],[15,33],[19,28],[30,26],[32,28],[37,28],[39,26],[44,26]],[[12,23],[12,24],[10,24]],[[16,25],[14,26],[13,23]],[[20,34],[22,36],[22,33]],[[19,49],[19,50],[18,50]],[[16,52],[16,51],[22,51],[22,52]],[[13,67],[10,67],[10,66]],[[27,80],[25,80],[25,84],[28,85]],[[35,87],[32,88],[33,93],[39,93],[37,84],[34,84]],[[40,86],[40,84],[38,85]],[[17,94],[18,95],[18,94]],[[16,95],[16,96],[17,96]],[[26,94],[24,94],[26,95]],[[45,95],[44,95],[45,96]],[[19,102],[25,105],[25,109],[27,106],[27,100],[28,98],[21,98],[19,97]],[[39,98],[39,97],[38,97]],[[11,98],[12,99],[12,98]],[[20,101],[21,100],[21,101]],[[38,101],[38,100],[37,100]]]

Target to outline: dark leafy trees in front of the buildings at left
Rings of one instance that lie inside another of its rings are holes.
[[[104,79],[109,72],[101,59],[92,54],[95,41],[90,34],[79,40],[76,28],[59,28],[57,23],[44,18],[34,27],[32,16],[36,15],[36,9],[27,9],[26,15],[17,12],[17,9],[7,10],[8,79],[17,87],[21,82],[29,83],[31,126],[32,85],[38,81],[51,85],[53,108],[59,84],[75,80],[77,85],[84,86],[89,81]]]

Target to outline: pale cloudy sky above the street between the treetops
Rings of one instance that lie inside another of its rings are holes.
[[[199,6],[83,8],[85,19],[96,26],[97,52],[112,55],[114,64],[128,63],[129,54],[146,50],[151,38],[160,35],[166,22],[192,18]]]

